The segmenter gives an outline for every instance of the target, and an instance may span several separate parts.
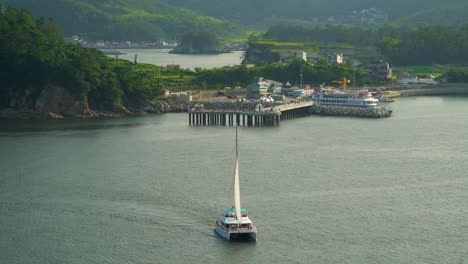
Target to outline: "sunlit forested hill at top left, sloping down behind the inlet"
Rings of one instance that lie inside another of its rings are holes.
[[[155,41],[178,39],[186,32],[210,31],[218,37],[237,34],[231,22],[199,15],[158,0],[4,0],[27,8],[35,17],[53,18],[66,36],[90,39]]]

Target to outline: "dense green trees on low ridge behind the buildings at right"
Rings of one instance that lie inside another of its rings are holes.
[[[376,27],[287,23],[271,27],[262,37],[275,41],[376,46],[383,58],[394,65],[468,61],[468,24]]]

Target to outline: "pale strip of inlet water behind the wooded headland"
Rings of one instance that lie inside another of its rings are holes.
[[[125,54],[119,55],[119,58],[129,61],[135,60],[140,63],[148,63],[159,66],[168,64],[179,64],[182,68],[217,68],[223,66],[239,65],[242,62],[243,51],[233,51],[230,53],[214,55],[184,55],[169,53],[170,49],[122,49]],[[114,57],[114,56],[111,56]]]

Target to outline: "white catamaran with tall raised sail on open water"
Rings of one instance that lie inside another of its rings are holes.
[[[240,205],[239,151],[236,127],[236,165],[234,169],[234,205],[225,208],[216,220],[216,233],[224,239],[257,240],[257,228],[250,220],[247,210]]]

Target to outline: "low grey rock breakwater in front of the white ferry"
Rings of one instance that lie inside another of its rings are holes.
[[[329,115],[329,116],[354,116],[367,118],[383,118],[392,116],[392,110],[384,107],[378,108],[360,108],[360,107],[343,107],[343,106],[322,106],[313,105],[309,109],[309,113],[313,115]]]

